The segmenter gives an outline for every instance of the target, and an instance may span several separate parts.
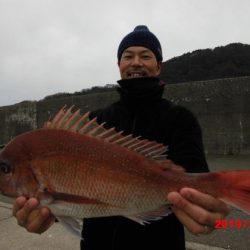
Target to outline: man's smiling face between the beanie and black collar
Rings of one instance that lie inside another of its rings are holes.
[[[145,47],[129,47],[122,53],[118,62],[122,79],[159,76],[161,62],[157,62],[154,53]]]

